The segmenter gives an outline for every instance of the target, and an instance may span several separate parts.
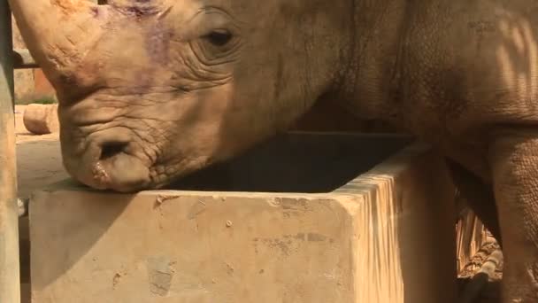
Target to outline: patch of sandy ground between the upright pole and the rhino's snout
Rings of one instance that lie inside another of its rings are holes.
[[[62,166],[58,134],[35,136],[22,121],[26,105],[15,106],[19,198],[68,177]]]

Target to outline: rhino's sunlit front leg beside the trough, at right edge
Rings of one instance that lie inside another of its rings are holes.
[[[502,129],[489,145],[503,234],[503,303],[538,302],[538,129]]]

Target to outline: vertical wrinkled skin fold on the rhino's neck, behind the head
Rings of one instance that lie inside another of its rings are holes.
[[[409,16],[401,0],[354,0],[348,48],[337,95],[361,119],[397,120]]]

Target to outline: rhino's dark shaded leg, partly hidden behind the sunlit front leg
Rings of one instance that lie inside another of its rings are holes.
[[[483,183],[479,177],[470,173],[457,162],[447,159],[447,164],[452,181],[461,196],[465,198],[467,205],[473,209],[474,214],[480,218],[480,221],[484,223],[499,245],[502,246],[503,241],[497,217],[495,195],[491,185]]]

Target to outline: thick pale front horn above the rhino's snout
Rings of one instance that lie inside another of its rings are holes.
[[[107,7],[88,0],[9,0],[27,48],[56,87],[103,33]]]

